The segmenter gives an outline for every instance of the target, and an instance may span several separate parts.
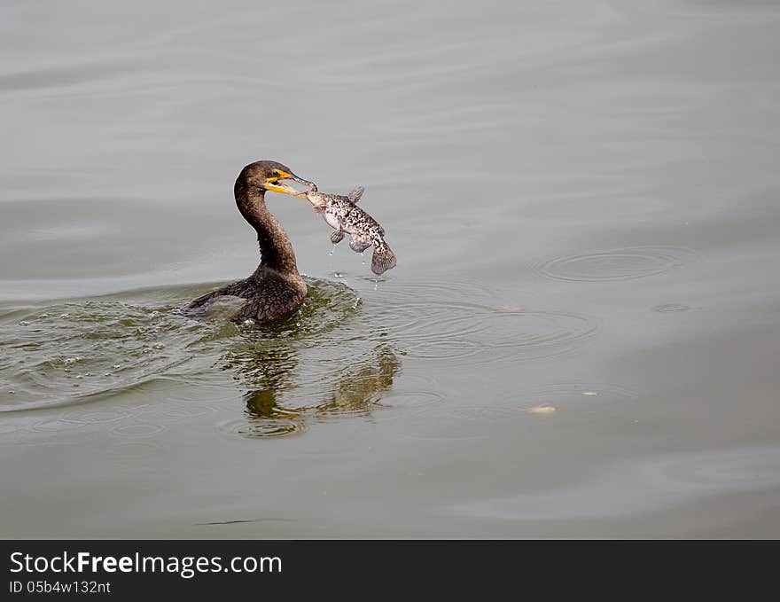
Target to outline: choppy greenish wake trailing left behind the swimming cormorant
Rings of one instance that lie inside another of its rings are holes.
[[[0,412],[98,402],[166,378],[208,385],[236,345],[319,339],[348,322],[357,297],[345,285],[308,281],[300,310],[261,329],[183,317],[179,307],[203,288],[192,286],[0,309]],[[117,419],[110,410],[96,416],[80,411],[60,422]]]

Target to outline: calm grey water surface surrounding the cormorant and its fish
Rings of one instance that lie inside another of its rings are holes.
[[[0,536],[780,536],[775,3],[0,12]]]

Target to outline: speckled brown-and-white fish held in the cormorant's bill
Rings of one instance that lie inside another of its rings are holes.
[[[345,234],[349,234],[349,247],[355,253],[363,253],[369,246],[374,246],[371,271],[379,275],[395,267],[395,254],[385,242],[385,229],[362,208],[357,207],[361,195],[363,187],[355,188],[346,197],[317,192],[316,188],[300,193],[317,213],[323,215],[325,222],[336,230],[331,234],[334,245],[341,242]]]

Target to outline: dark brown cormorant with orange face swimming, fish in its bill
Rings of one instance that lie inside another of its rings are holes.
[[[306,283],[300,278],[295,263],[295,253],[285,229],[265,205],[265,192],[284,192],[296,195],[296,191],[282,180],[292,180],[316,188],[292,173],[290,168],[277,161],[256,161],[241,170],[233,189],[236,205],[244,219],[257,231],[261,262],[249,278],[207,293],[191,301],[185,313],[206,313],[214,305],[226,305],[238,309],[230,319],[233,322],[253,320],[265,324],[284,317],[300,305],[306,297]]]

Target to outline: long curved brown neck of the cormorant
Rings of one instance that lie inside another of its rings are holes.
[[[260,245],[260,268],[270,268],[283,274],[298,275],[295,263],[295,253],[292,251],[290,238],[277,218],[265,205],[265,191],[236,183],[236,205],[244,219],[252,224],[257,231],[257,242]]]

